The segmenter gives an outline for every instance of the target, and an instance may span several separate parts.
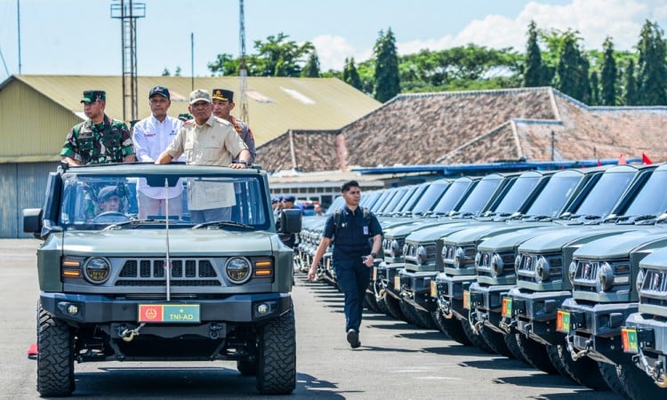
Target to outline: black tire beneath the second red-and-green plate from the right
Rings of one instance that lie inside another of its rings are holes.
[[[551,363],[562,367],[560,373],[567,379],[593,390],[611,390],[602,377],[598,362],[589,357],[582,357],[576,361],[573,360],[567,352],[565,339],[563,340],[563,344],[547,346],[547,355]]]

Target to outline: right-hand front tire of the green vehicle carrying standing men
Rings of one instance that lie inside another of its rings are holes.
[[[262,395],[289,395],[296,386],[294,308],[258,330],[257,390]]]

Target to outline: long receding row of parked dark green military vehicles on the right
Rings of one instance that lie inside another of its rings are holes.
[[[588,388],[662,398],[666,187],[667,164],[653,164],[365,193],[384,231],[367,305]],[[303,220],[295,257],[304,271],[324,220]],[[335,284],[331,257],[318,276]]]

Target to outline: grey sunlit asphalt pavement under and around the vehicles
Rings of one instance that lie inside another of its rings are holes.
[[[36,239],[0,240],[0,398],[32,399],[36,361]],[[517,360],[464,347],[440,332],[366,310],[361,347],[345,340],[342,293],[297,273],[297,384],[292,396],[266,398],[617,399]],[[233,362],[76,364],[74,397],[259,398],[254,379]]]

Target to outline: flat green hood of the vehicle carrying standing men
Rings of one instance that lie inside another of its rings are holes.
[[[224,229],[170,229],[169,252],[173,255],[269,254],[277,249],[277,234],[266,231],[239,232]],[[115,229],[65,232],[63,251],[69,255],[151,256],[165,254],[164,229]]]

